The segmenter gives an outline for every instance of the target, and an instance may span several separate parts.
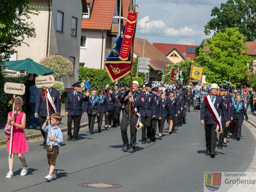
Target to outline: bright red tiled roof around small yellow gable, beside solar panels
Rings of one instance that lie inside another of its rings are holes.
[[[186,56],[183,56],[184,58],[190,58],[192,60],[195,57],[195,53],[187,53],[186,47],[198,47],[198,45],[180,45],[168,43],[153,43],[153,46],[155,46],[165,56],[168,55],[173,48],[175,48],[181,55],[183,55],[183,52],[186,53]]]

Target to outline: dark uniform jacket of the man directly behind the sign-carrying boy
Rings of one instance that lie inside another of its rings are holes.
[[[60,108],[61,108],[61,99],[60,99],[60,94],[59,91],[56,90],[55,88],[51,89],[50,96],[54,102],[54,105],[56,107],[56,113],[60,113]],[[49,102],[49,101],[48,101]],[[40,110],[39,110],[40,107]],[[40,93],[38,94],[37,100],[36,100],[36,107],[35,111],[39,110],[39,114],[42,117],[47,117],[47,107],[46,107],[46,99],[44,99],[42,89],[40,90]],[[51,116],[53,112],[49,108],[49,116]]]

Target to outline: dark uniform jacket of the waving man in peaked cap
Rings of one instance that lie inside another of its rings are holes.
[[[67,95],[65,103],[65,111],[68,111],[68,115],[82,115],[83,101],[88,101],[88,97],[82,92],[77,92],[77,95],[74,95],[74,92],[69,92]]]

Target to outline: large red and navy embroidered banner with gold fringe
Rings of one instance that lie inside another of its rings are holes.
[[[122,29],[120,36],[104,62],[107,73],[113,82],[124,77],[131,70],[136,21],[137,13],[128,13],[126,25]]]

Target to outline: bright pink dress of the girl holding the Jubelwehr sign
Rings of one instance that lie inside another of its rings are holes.
[[[12,116],[12,111],[9,112],[10,117]],[[21,125],[21,119],[24,112],[21,111],[19,114],[14,114],[14,122]],[[8,138],[7,141],[7,149],[6,151],[9,152],[10,149],[10,138]],[[28,152],[28,143],[27,139],[24,134],[24,130],[13,126],[13,144],[12,144],[12,150],[13,153],[25,153]]]

